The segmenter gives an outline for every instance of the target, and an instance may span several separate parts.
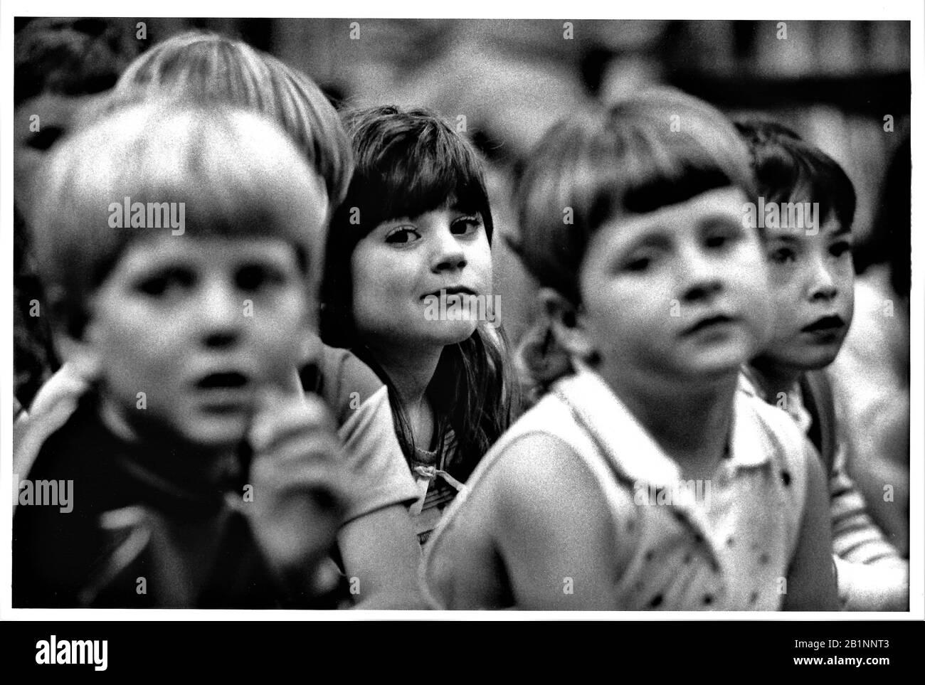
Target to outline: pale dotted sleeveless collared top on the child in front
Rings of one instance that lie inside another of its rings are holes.
[[[709,481],[685,483],[610,387],[582,369],[552,385],[501,436],[470,477],[468,493],[515,441],[535,433],[572,448],[610,510],[619,573],[615,601],[599,608],[780,608],[803,518],[808,459],[805,438],[783,411],[738,391],[728,458]],[[484,526],[467,517],[468,493],[456,498],[425,550],[425,594],[439,608],[451,595],[453,555],[485,544]]]

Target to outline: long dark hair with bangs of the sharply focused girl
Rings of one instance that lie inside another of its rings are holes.
[[[481,214],[490,241],[494,225],[487,185],[472,144],[431,112],[380,106],[345,113],[345,120],[355,167],[328,233],[321,337],[327,345],[352,349],[388,385],[396,433],[411,459],[414,442],[401,399],[353,324],[351,255],[383,221],[419,216],[448,202]],[[461,480],[512,420],[515,386],[509,366],[503,331],[492,331],[485,322],[466,340],[443,349],[427,394],[446,419],[442,427],[456,436],[457,459],[446,466]]]

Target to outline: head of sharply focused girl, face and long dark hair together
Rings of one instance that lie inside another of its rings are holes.
[[[380,374],[376,349],[410,357],[442,350],[428,395],[456,434],[465,463],[455,474],[464,477],[510,412],[499,312],[489,311],[494,226],[481,161],[469,141],[424,110],[367,109],[348,116],[347,128],[355,171],[331,222],[322,337],[354,349]],[[457,307],[459,318],[428,316],[444,296],[448,304],[485,306]],[[474,317],[476,310],[491,318]],[[413,454],[401,403],[393,410]]]

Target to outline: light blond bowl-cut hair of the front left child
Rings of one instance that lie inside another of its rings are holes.
[[[34,240],[57,324],[79,336],[87,301],[131,241],[190,237],[290,242],[310,281],[324,259],[327,195],[289,136],[252,112],[178,101],[135,105],[62,141],[44,168]],[[135,202],[183,207],[182,234],[132,227]],[[180,205],[179,203],[183,203]],[[118,205],[118,206],[117,206]],[[121,211],[122,227],[113,226]]]

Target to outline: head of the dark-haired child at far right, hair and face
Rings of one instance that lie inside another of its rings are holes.
[[[738,122],[759,186],[774,330],[759,364],[793,371],[830,364],[854,312],[855,189],[845,170],[794,131]],[[762,209],[763,208],[763,209]]]

